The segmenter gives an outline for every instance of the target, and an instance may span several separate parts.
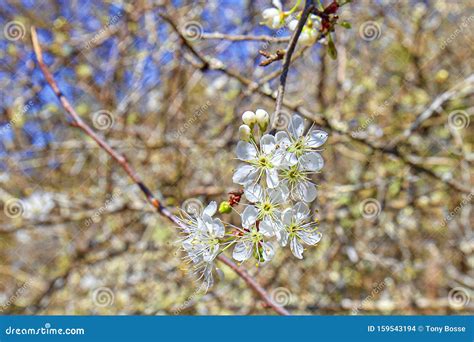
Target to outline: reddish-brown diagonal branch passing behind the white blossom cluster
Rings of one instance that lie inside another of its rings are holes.
[[[156,199],[151,190],[143,183],[141,178],[138,176],[138,174],[135,172],[135,170],[132,168],[132,166],[128,163],[127,159],[125,156],[119,154],[117,151],[115,151],[104,139],[102,139],[100,136],[98,136],[91,128],[90,126],[85,123],[81,117],[76,113],[74,110],[73,106],[69,103],[68,99],[64,96],[63,92],[59,89],[58,84],[56,83],[52,73],[49,71],[48,67],[43,61],[43,53],[41,51],[41,46],[39,45],[38,42],[38,36],[36,34],[36,29],[35,27],[31,28],[31,40],[33,43],[33,48],[35,51],[36,59],[38,61],[38,65],[43,72],[43,75],[50,85],[51,89],[61,102],[62,106],[66,110],[66,112],[69,114],[73,121],[73,125],[82,131],[89,137],[91,137],[102,149],[104,149],[119,165],[125,170],[127,175],[133,180],[135,184],[138,185],[140,190],[145,194],[148,202],[150,202],[158,211],[159,214],[162,216],[166,217],[168,220],[173,222],[175,225],[182,227],[182,223],[179,221],[179,219],[171,213],[171,211],[163,206],[158,199]],[[218,257],[220,261],[222,261],[224,264],[228,265],[232,270],[234,270],[246,283],[249,285],[255,293],[257,293],[262,300],[268,304],[275,312],[277,312],[280,315],[289,315],[288,311],[286,311],[284,308],[280,307],[276,303],[274,303],[268,293],[263,289],[257,281],[255,281],[245,270],[242,268],[238,267],[233,261],[228,259],[227,257],[220,255]]]

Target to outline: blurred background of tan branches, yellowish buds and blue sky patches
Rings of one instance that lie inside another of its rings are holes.
[[[225,265],[197,292],[176,228],[69,125],[30,37],[82,118],[178,208],[238,190],[240,116],[274,111],[281,61],[259,66],[258,50],[291,32],[260,25],[268,7],[1,2],[1,314],[272,313]],[[298,45],[284,107],[330,134],[323,239],[302,261],[287,248],[243,267],[293,314],[473,314],[474,4],[361,0],[338,15],[352,26],[336,27],[338,58]]]

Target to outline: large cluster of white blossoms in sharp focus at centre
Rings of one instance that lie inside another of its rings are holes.
[[[221,213],[239,212],[241,207],[241,226],[213,218],[216,202],[196,215],[184,213],[181,219],[184,236],[180,242],[186,259],[206,287],[213,283],[215,258],[228,248],[233,247],[235,260],[253,258],[258,266],[273,258],[276,246],[289,246],[293,255],[302,259],[303,245],[312,246],[321,239],[309,205],[317,197],[311,176],[324,165],[319,152],[328,134],[307,129],[298,115],[289,120],[286,129],[266,133],[270,117],[263,109],[245,112],[242,120],[236,148],[242,164],[233,181],[243,189],[219,206]],[[247,203],[242,203],[241,197]]]

